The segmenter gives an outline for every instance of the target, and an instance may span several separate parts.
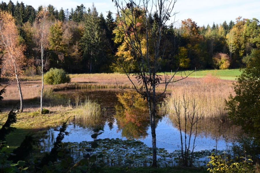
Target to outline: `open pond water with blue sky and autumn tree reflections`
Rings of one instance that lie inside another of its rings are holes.
[[[88,100],[95,101],[101,108],[101,114],[94,122],[91,120],[70,120],[71,125],[67,128],[70,134],[64,137],[63,142],[82,145],[81,142],[92,141],[93,128],[102,126],[104,133],[99,135],[100,139],[134,139],[143,142],[147,148],[152,147],[147,103],[136,92],[93,89],[66,90],[55,92],[55,94],[69,99],[73,106]],[[184,136],[183,131],[181,133]],[[231,126],[229,121],[219,118],[202,118],[199,123],[194,151],[213,150],[216,145],[218,150],[225,150],[236,133],[238,133],[237,129]],[[52,133],[53,137],[56,137],[57,134],[58,131]],[[191,141],[194,140],[194,134],[192,133]],[[163,148],[165,153],[174,153],[174,151],[181,149],[180,131],[176,122],[168,118],[167,115],[158,116],[156,141],[157,148]],[[210,153],[208,154],[210,155]]]

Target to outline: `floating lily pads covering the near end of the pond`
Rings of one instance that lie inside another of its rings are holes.
[[[99,146],[95,149],[96,154],[102,154],[103,164],[106,165],[131,165],[148,166],[152,164],[152,148],[149,148],[141,141],[136,140],[122,140],[119,138],[105,138],[98,141]],[[86,149],[91,147],[91,142],[82,141],[68,142],[68,148],[73,155],[75,161],[79,161],[85,155]],[[213,150],[203,150],[194,152],[193,165],[202,166],[207,165],[209,161],[208,156]],[[173,166],[181,164],[181,150],[174,152],[167,152],[164,148],[157,148],[157,164],[160,167]]]

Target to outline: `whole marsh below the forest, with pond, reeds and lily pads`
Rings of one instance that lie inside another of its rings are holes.
[[[195,108],[200,116],[197,128],[192,130],[190,136],[191,140],[194,140],[196,135],[194,148],[192,148],[195,157],[204,158],[204,160],[195,162],[196,159],[194,159],[195,166],[206,166],[208,159],[205,158],[211,155],[216,147],[219,147],[217,150],[221,152],[230,150],[234,139],[243,133],[240,127],[232,124],[225,109],[225,100],[230,94],[234,94],[232,83],[236,81],[221,79],[221,76],[217,75],[220,71],[211,70],[206,74],[205,71],[198,71],[196,78],[195,74],[192,74],[187,79],[168,85],[167,92],[157,103],[157,146],[160,150],[158,153],[160,167],[164,167],[165,164],[168,166],[179,164],[178,160],[172,159],[181,155],[179,130],[181,128],[184,136],[184,130],[191,129],[188,126],[185,128],[184,114],[179,116],[180,123],[177,123],[176,103],[178,101],[183,103],[183,98],[190,105],[192,102],[196,103]],[[201,73],[204,74],[201,75]],[[237,70],[236,75],[239,73]],[[22,113],[17,114],[18,121],[13,125],[17,128],[16,131],[6,137],[10,149],[18,147],[26,135],[35,134],[43,141],[41,145],[44,144],[44,146],[38,145],[38,150],[46,151],[46,147],[50,150],[53,144],[51,141],[54,141],[58,134],[55,129],[59,129],[60,125],[70,117],[67,122],[71,124],[68,127],[70,134],[65,136],[64,142],[72,142],[69,146],[73,150],[75,160],[82,157],[82,150],[77,148],[79,146],[87,148],[84,141],[91,141],[92,130],[102,127],[104,133],[100,135],[100,138],[105,142],[100,144],[99,151],[107,153],[104,154],[107,159],[106,164],[123,165],[127,159],[135,160],[133,163],[135,166],[151,164],[151,158],[147,158],[147,155],[140,155],[144,151],[151,152],[147,103],[134,90],[118,88],[118,85],[130,88],[129,79],[120,73],[79,74],[70,75],[70,77],[70,83],[44,85],[43,107],[50,111],[49,114],[40,114],[39,111],[40,77],[24,77],[21,80],[25,108]],[[174,80],[179,77],[181,76],[176,76]],[[235,78],[234,75],[230,77]],[[134,78],[133,80],[135,81]],[[19,101],[17,86],[12,78],[6,78],[3,84],[8,86],[3,94],[4,100],[1,101],[3,107],[1,117],[8,114],[8,111]],[[163,87],[159,86],[157,92],[160,93],[162,89]],[[187,109],[192,109],[192,107]],[[118,143],[119,145],[115,146]],[[193,145],[193,142],[190,144]],[[106,145],[110,148],[106,148]],[[135,150],[139,154],[134,152],[134,156],[129,155],[133,152],[130,150],[133,147],[131,145],[136,147]],[[124,146],[129,146],[128,154]],[[115,148],[116,156],[111,158],[113,155],[111,150]],[[203,152],[205,155],[202,154]],[[41,153],[38,153],[37,157],[40,157]],[[125,158],[122,158],[123,156]]]

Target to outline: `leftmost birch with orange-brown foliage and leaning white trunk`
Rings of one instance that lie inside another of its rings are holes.
[[[18,29],[12,14],[0,12],[0,49],[3,51],[4,75],[14,75],[16,77],[17,88],[20,95],[20,110],[23,112],[23,94],[19,81],[19,75],[23,73],[22,67],[26,64],[23,55],[24,45],[19,41]]]

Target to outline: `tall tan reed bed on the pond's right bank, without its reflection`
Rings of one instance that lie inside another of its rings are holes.
[[[196,99],[203,118],[226,118],[225,99],[234,94],[232,81],[220,80],[214,76],[185,79],[172,83],[168,89],[172,93],[165,99],[164,110],[170,116],[174,113],[174,99],[182,98],[184,94],[190,99]]]

